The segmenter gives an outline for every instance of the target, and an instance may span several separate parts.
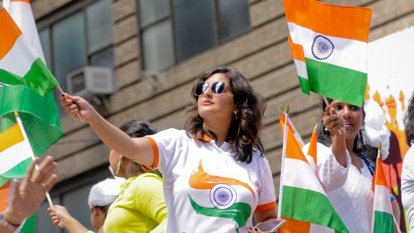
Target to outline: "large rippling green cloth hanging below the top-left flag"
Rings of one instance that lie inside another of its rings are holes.
[[[41,97],[25,85],[4,86],[0,88],[0,100],[0,131],[16,123],[14,111],[18,111],[36,156],[43,155],[62,136],[53,92]],[[13,170],[6,175],[18,178],[24,175],[24,171]]]

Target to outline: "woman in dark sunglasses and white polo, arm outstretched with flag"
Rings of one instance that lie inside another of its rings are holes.
[[[72,118],[79,113],[110,148],[163,173],[165,232],[247,232],[253,216],[257,223],[277,217],[259,137],[266,103],[238,71],[219,67],[196,80],[187,130],[144,138],[131,139],[84,99],[66,97],[61,96],[65,111]]]

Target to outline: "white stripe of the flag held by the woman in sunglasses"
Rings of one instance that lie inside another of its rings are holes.
[[[0,69],[23,77],[37,58],[33,47],[20,35],[12,49],[0,60]]]

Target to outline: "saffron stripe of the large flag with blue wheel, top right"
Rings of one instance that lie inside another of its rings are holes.
[[[331,5],[317,0],[283,0],[283,6],[288,22],[324,35],[368,42],[370,8]]]

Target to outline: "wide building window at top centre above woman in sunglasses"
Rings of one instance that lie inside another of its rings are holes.
[[[250,28],[248,0],[138,0],[144,70],[162,71]]]

